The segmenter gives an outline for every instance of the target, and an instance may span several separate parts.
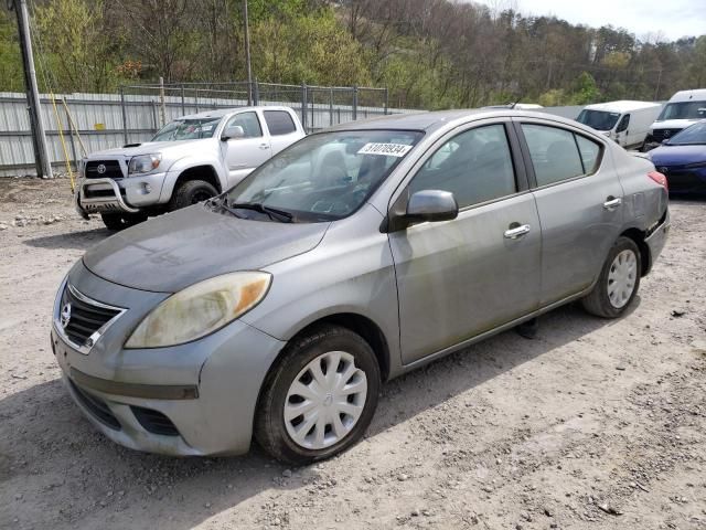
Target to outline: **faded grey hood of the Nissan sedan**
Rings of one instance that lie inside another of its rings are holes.
[[[308,252],[329,225],[248,221],[195,204],[119,232],[86,252],[83,261],[115,284],[176,293],[221,274],[259,269]]]

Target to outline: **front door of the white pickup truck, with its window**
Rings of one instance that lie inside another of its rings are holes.
[[[237,184],[271,156],[270,142],[263,134],[257,113],[250,110],[236,114],[228,119],[223,130],[232,126],[243,127],[244,137],[221,142],[223,158],[228,167],[228,187]]]

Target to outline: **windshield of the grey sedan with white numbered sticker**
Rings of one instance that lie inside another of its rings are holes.
[[[293,222],[343,219],[363,205],[421,136],[352,130],[306,137],[229,190],[225,205],[238,216],[258,220],[267,219],[261,206],[285,212]],[[249,208],[238,210],[238,204]]]

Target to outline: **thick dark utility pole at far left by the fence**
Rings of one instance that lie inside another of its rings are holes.
[[[36,87],[36,72],[34,71],[34,56],[32,55],[30,15],[26,9],[26,0],[13,0],[13,8],[18,17],[18,33],[20,36],[20,49],[22,51],[22,64],[24,66],[24,85],[26,87],[36,174],[43,179],[51,179],[53,177],[52,166],[49,160],[46,135],[44,134],[42,113],[40,112],[40,92]]]

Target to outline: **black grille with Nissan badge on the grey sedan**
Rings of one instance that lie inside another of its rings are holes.
[[[96,304],[66,284],[58,319],[66,337],[78,347],[92,347],[90,336],[121,312],[121,309]]]

